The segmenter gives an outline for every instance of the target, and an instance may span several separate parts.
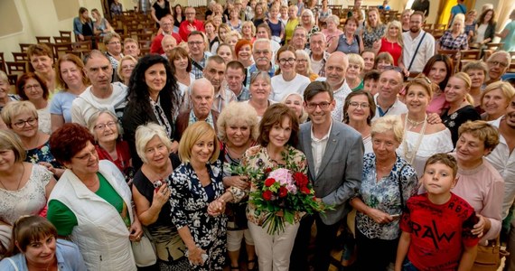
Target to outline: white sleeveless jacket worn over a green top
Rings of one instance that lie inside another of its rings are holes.
[[[125,201],[133,221],[131,192],[115,164],[98,162],[98,172]],[[71,240],[79,247],[88,270],[136,270],[129,231],[114,206],[91,192],[70,170],[66,170],[53,188],[49,201],[57,200],[75,214],[79,225]]]

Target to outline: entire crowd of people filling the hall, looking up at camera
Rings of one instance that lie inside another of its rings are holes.
[[[497,270],[480,259],[503,241],[515,270],[514,21],[495,33],[458,1],[435,40],[429,1],[389,23],[361,2],[340,27],[327,0],[205,21],[157,0],[145,55],[81,7],[77,39],[106,51],[34,44],[16,94],[0,71],[0,269],[325,271],[343,248],[358,270]],[[439,53],[495,36],[463,67]],[[259,209],[277,168],[326,209]]]

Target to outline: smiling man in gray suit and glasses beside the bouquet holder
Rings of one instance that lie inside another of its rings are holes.
[[[300,127],[298,149],[307,158],[308,177],[316,197],[334,210],[301,220],[290,270],[307,269],[307,246],[314,222],[317,229],[314,270],[329,268],[332,243],[340,221],[351,209],[349,200],[360,189],[363,141],[360,133],[351,126],[332,120],[334,107],[332,89],[327,82],[314,81],[304,90],[304,108],[311,121]]]

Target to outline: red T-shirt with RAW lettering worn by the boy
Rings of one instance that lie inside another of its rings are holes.
[[[472,206],[454,193],[442,205],[429,201],[427,193],[409,198],[400,221],[411,236],[407,258],[419,270],[456,270],[463,246],[479,242],[471,232],[476,222]]]

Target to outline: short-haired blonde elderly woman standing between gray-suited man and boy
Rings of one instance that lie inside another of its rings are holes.
[[[398,116],[380,117],[372,123],[373,153],[363,157],[360,191],[351,200],[358,210],[356,239],[360,270],[385,270],[395,261],[400,229],[398,216],[417,192],[417,173],[395,150],[402,142]]]

